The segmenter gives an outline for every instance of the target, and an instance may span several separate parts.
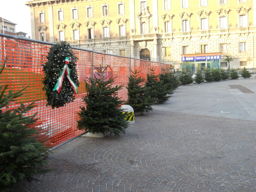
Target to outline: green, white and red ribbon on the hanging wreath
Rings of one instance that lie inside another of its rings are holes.
[[[62,82],[63,82],[63,78],[64,78],[64,75],[66,74],[67,75],[67,78],[75,92],[75,94],[77,94],[78,90],[77,90],[77,86],[76,84],[72,81],[72,79],[70,78],[70,69],[68,68],[68,64],[69,62],[71,62],[71,57],[66,57],[65,58],[65,65],[63,66],[63,70],[62,72],[60,73],[60,77],[58,78],[58,81],[53,89],[53,91],[57,90],[58,93],[60,93],[60,90],[61,90],[61,87],[62,87]]]

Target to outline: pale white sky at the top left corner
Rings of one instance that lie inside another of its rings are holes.
[[[16,32],[27,33],[26,37],[31,36],[30,8],[24,4],[28,1],[0,0],[0,17],[17,24]]]

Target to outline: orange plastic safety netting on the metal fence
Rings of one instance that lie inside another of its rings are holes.
[[[124,101],[128,98],[126,86],[130,70],[137,69],[140,71],[140,76],[146,79],[148,68],[155,68],[156,74],[159,74],[161,68],[158,62],[74,48],[74,54],[78,57],[77,70],[80,81],[78,94],[74,102],[52,109],[46,106],[46,96],[42,90],[44,72],[41,66],[47,61],[46,56],[50,47],[50,44],[43,42],[11,38],[11,36],[6,38],[0,34],[0,65],[4,64],[5,56],[7,57],[6,67],[1,74],[1,84],[8,84],[8,90],[13,92],[27,87],[23,91],[24,94],[18,98],[17,102],[11,104],[10,108],[16,108],[20,103],[35,102],[36,107],[29,112],[29,115],[38,113],[36,118],[39,120],[36,127],[40,129],[39,138],[50,147],[57,146],[84,132],[77,128],[78,112],[80,107],[85,105],[82,99],[86,96],[84,81],[97,74],[95,67],[107,68],[105,75],[108,78],[115,77],[114,86],[123,85],[118,96]]]

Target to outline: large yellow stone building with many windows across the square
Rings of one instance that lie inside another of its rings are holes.
[[[256,0],[34,0],[32,39],[171,64],[256,68]]]

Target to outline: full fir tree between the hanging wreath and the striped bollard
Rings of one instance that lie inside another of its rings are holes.
[[[80,107],[78,128],[90,133],[110,133],[119,136],[125,133],[128,122],[127,112],[120,108],[124,101],[118,98],[118,91],[123,86],[112,86],[115,78],[104,76],[107,68],[95,67],[98,71],[94,78],[85,82],[87,95],[83,98],[85,107]]]

